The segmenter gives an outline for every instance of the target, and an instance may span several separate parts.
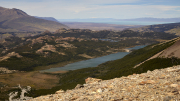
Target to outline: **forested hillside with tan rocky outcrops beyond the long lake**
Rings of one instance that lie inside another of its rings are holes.
[[[116,38],[117,36],[121,37]],[[55,33],[45,31],[33,37],[9,37],[2,40],[0,66],[11,70],[32,71],[37,66],[95,58],[124,51],[123,48],[126,47],[155,43],[158,42],[157,39],[167,40],[174,37],[176,36],[166,33],[144,33],[142,36],[128,30],[113,32],[59,29]]]

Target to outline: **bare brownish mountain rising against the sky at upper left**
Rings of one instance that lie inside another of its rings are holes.
[[[0,32],[55,31],[59,28],[68,27],[55,21],[35,18],[19,9],[0,7]]]

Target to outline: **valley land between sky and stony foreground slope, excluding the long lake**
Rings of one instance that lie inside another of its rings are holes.
[[[19,97],[19,84],[31,86],[27,96],[38,97],[73,89],[89,77],[109,80],[180,65],[179,23],[59,23],[3,7],[0,16],[0,100],[8,100],[10,92]],[[127,49],[141,45],[146,47]],[[89,68],[40,72],[118,52],[129,54]]]

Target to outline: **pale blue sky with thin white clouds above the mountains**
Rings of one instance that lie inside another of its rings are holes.
[[[56,19],[180,17],[180,0],[0,0],[0,6]]]

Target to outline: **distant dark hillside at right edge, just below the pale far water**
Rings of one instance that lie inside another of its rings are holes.
[[[149,25],[140,28],[132,28],[130,30],[138,32],[167,32],[171,34],[180,35],[180,23]]]

